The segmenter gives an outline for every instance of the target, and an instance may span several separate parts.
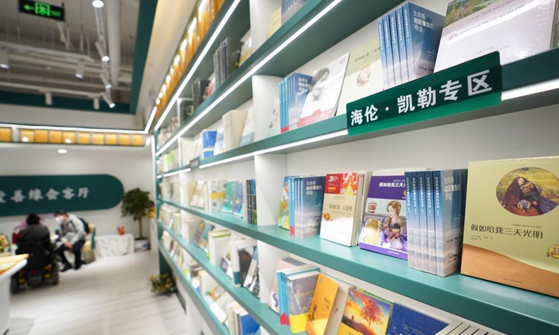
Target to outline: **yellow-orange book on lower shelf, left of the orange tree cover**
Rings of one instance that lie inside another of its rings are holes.
[[[324,274],[319,274],[305,328],[309,335],[324,335],[336,294],[337,283]]]

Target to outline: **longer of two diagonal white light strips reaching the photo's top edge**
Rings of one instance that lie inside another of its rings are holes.
[[[277,54],[279,54],[279,52],[284,50],[287,45],[289,45],[291,42],[293,42],[293,40],[296,40],[296,38],[298,38],[301,34],[303,34],[305,31],[307,31],[307,29],[312,27],[313,24],[317,23],[318,20],[320,20],[322,17],[324,17],[324,15],[326,15],[333,8],[335,8],[335,6],[337,6],[340,2],[342,2],[342,0],[333,1],[333,3],[328,5],[320,13],[318,13],[316,16],[314,16],[309,22],[307,22],[303,27],[301,27],[295,34],[290,36],[287,40],[284,41],[284,43],[279,45],[279,47],[277,47],[273,52],[268,54],[268,57],[263,59],[256,66],[254,66],[254,68],[252,68],[252,70],[250,70],[246,75],[244,75],[242,78],[240,78],[240,80],[235,82],[235,84],[233,84],[233,86],[231,88],[229,88],[227,91],[225,91],[224,94],[219,96],[219,98],[217,98],[216,101],[214,101],[203,112],[201,112],[201,114],[199,114],[198,117],[196,117],[196,118],[194,118],[194,120],[190,121],[189,124],[187,124],[187,126],[182,128],[182,130],[179,133],[177,133],[175,136],[173,136],[173,138],[171,138],[163,147],[161,147],[161,149],[159,149],[159,151],[157,151],[156,155],[159,156],[164,151],[166,151],[166,149],[168,149],[171,146],[171,144],[173,144],[176,140],[178,140],[179,137],[181,137],[184,133],[189,131],[189,129],[192,128],[196,123],[198,123],[198,121],[203,119],[203,117],[205,117],[213,108],[215,108],[217,105],[219,105],[219,103],[221,103],[229,94],[233,93],[233,91],[235,91],[235,89],[240,87],[240,85],[242,83],[244,83],[246,80],[248,80],[250,77],[252,77],[252,75],[254,75],[254,73],[256,73],[256,71],[260,70],[260,68],[262,68],[262,66],[266,65],[268,63],[268,61],[273,59]]]

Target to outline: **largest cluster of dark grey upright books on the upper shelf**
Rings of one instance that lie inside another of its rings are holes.
[[[220,87],[239,66],[242,42],[226,38],[214,53],[215,87]]]

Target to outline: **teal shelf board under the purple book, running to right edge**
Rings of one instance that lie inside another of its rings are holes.
[[[407,262],[347,247],[318,236],[297,239],[276,225],[250,225],[231,214],[209,213],[161,200],[205,220],[245,234],[386,290],[398,292],[505,334],[556,334],[559,299],[478,278],[445,278],[409,269]]]

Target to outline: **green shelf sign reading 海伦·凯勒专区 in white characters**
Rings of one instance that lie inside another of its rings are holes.
[[[350,136],[447,117],[501,103],[499,53],[398,85],[347,104]]]

